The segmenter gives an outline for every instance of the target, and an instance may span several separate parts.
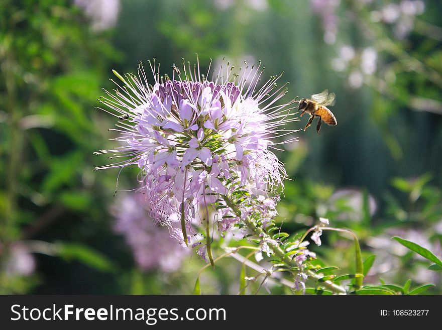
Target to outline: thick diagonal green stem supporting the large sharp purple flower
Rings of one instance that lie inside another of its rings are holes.
[[[226,201],[226,204],[234,211],[234,213],[238,216],[241,216],[241,211],[239,210],[239,208],[237,207],[237,205],[235,205],[235,203],[227,196],[223,196],[224,200]],[[279,244],[274,244],[272,243],[273,240],[270,239],[269,235],[267,233],[265,233],[261,228],[255,226],[255,224],[250,221],[250,219],[247,217],[244,220],[244,223],[246,224],[247,228],[256,236],[256,237],[262,237],[263,239],[268,239],[268,244],[271,246],[273,253],[278,256],[282,262],[284,262],[289,268],[294,268],[294,267],[298,267],[298,265],[289,257],[285,256],[284,251],[281,249],[281,247],[279,246]],[[297,274],[298,272],[295,270],[291,270],[292,274]],[[310,277],[315,279],[316,281],[319,280],[321,278],[320,275],[315,274],[314,272],[312,272],[311,270],[307,270],[305,271],[305,273]],[[325,286],[326,288],[332,290],[335,293],[347,293],[347,291],[345,290],[345,288],[343,288],[340,285],[337,285],[335,283],[333,283],[332,281],[325,281],[322,282],[321,285]]]

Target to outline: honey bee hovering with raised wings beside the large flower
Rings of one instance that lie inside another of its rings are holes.
[[[319,94],[311,95],[311,98],[301,98],[298,107],[301,110],[300,116],[302,117],[304,113],[310,115],[310,118],[305,125],[304,132],[313,122],[314,117],[319,117],[319,121],[316,126],[316,131],[319,133],[321,129],[322,121],[328,125],[336,126],[338,122],[336,121],[335,115],[327,108],[328,105],[335,104],[335,93],[329,93],[328,89],[320,92]]]

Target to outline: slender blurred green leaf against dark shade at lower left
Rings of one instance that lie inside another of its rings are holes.
[[[115,266],[106,256],[88,246],[78,243],[59,242],[56,243],[56,250],[58,255],[65,260],[77,260],[102,272],[115,270]]]

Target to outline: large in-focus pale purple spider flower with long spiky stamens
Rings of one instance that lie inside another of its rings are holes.
[[[221,232],[242,220],[226,196],[242,198],[241,217],[261,213],[267,217],[263,224],[268,222],[286,175],[272,149],[284,143],[280,136],[293,132],[284,126],[298,120],[293,101],[277,103],[287,92],[285,84],[276,85],[281,75],[258,88],[261,64],[239,74],[229,63],[221,65],[212,80],[205,78],[210,65],[206,75],[199,63],[183,65],[182,71],[173,66],[171,77],[160,76],[155,62],[150,68],[151,79],[142,64],[137,75],[114,71],[122,84],[100,101],[120,119],[114,139],[119,145],[98,154],[121,161],[97,169],[138,166],[149,215],[174,228],[185,244],[197,234],[198,221],[207,222],[208,238],[209,214]]]

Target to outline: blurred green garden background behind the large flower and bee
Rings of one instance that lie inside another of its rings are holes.
[[[155,58],[170,74],[195,53],[202,68],[226,57],[236,67],[261,60],[264,79],[284,71],[287,98],[335,92],[338,126],[300,131],[278,153],[293,179],[283,229],[328,217],[377,255],[366,281],[411,278],[442,293],[440,273],[391,240],[442,255],[441,13],[420,0],[2,1],[0,293],[192,292],[196,255],[177,257],[173,271],[143,266],[154,252],[137,258],[138,243],[115,228],[129,193],[114,196],[118,170],[93,171],[107,162],[93,152],[115,137],[114,118],[93,108],[113,88],[112,69]],[[136,172],[123,172],[119,189],[135,188]],[[352,267],[351,242],[323,241],[313,250],[325,263]],[[223,260],[202,290],[237,293],[239,273]]]

